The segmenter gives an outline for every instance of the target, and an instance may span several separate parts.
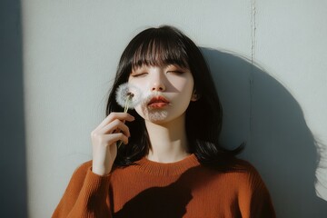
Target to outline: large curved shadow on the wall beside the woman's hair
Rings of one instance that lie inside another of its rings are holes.
[[[241,158],[261,173],[277,217],[327,217],[314,190],[317,147],[292,94],[242,57],[201,49],[223,104],[222,143],[247,142]]]

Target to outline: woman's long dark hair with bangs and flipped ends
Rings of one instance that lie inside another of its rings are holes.
[[[243,145],[232,151],[220,145],[223,109],[210,70],[200,49],[190,38],[172,26],[148,28],[136,35],[127,45],[118,64],[114,85],[108,98],[106,115],[123,111],[115,101],[115,91],[120,84],[128,81],[134,67],[143,64],[178,64],[187,66],[193,74],[194,89],[200,98],[189,104],[186,110],[185,128],[189,152],[195,154],[200,163],[206,165],[226,163],[243,150]],[[118,149],[114,162],[118,166],[132,164],[149,151],[150,142],[144,119],[134,110],[129,113],[134,115],[135,120],[127,123],[131,137],[129,144]]]

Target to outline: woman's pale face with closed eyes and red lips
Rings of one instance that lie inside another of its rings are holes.
[[[144,120],[155,124],[170,122],[184,115],[193,95],[193,75],[188,68],[170,64],[135,68],[128,83],[142,93],[135,107]]]

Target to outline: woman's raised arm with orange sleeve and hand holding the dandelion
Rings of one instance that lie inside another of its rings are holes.
[[[133,120],[130,114],[111,113],[92,131],[93,161],[74,172],[53,217],[111,217],[107,199],[116,142],[128,144],[130,133],[124,122]]]

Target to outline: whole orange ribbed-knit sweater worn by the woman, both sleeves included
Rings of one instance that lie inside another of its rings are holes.
[[[74,172],[53,217],[275,217],[259,173],[222,173],[201,165],[194,154],[177,163],[145,158],[107,176],[92,162]]]

